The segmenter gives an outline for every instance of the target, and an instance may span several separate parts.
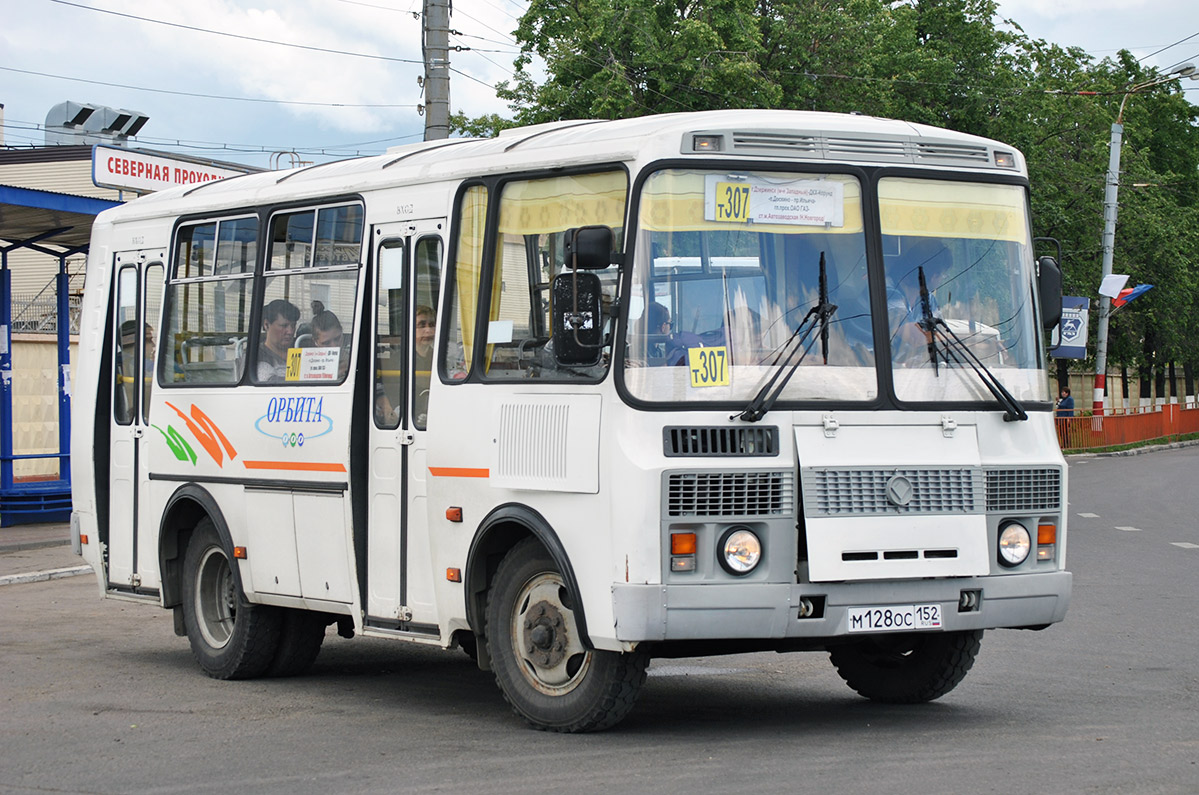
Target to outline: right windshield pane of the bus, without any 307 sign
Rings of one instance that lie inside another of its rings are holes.
[[[1048,393],[1026,206],[1017,185],[879,181],[900,400],[992,400],[970,360],[1017,400]]]

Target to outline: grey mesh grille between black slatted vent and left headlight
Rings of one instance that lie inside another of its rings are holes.
[[[759,472],[671,472],[667,516],[763,517],[795,510],[790,470]]]

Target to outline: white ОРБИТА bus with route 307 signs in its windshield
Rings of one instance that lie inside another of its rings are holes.
[[[78,548],[215,677],[336,625],[460,646],[559,731],[652,657],[938,698],[1070,601],[1028,191],[992,140],[727,110],[131,201],[88,263]]]

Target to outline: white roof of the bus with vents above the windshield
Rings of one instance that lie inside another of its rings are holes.
[[[717,140],[698,149],[697,135]],[[996,163],[995,153],[1011,156]],[[396,146],[384,155],[170,188],[103,213],[103,221],[203,212],[547,167],[681,157],[914,165],[1024,175],[1013,147],[893,119],[807,110],[710,110],[634,119],[568,120]]]

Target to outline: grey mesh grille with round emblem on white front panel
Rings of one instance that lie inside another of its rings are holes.
[[[910,483],[906,505],[887,499],[892,478]],[[982,505],[982,478],[974,469],[817,469],[803,480],[808,516],[975,513]]]

